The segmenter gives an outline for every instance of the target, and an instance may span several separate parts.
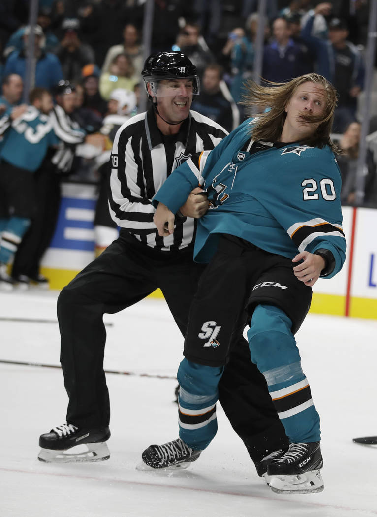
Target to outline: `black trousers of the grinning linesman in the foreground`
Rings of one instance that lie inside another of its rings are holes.
[[[192,251],[155,251],[121,232],[113,244],[64,287],[57,312],[60,362],[69,397],[68,422],[86,428],[109,424],[109,396],[103,371],[103,314],[130,307],[160,287],[184,336],[202,270],[202,265],[193,262]],[[219,384],[219,402],[254,463],[287,445],[264,377],[250,361],[244,339],[230,353]]]

